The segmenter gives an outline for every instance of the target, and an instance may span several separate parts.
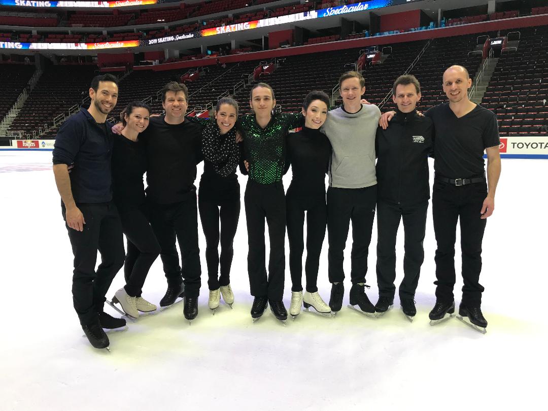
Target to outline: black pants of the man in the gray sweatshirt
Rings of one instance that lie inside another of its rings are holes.
[[[352,284],[366,282],[367,256],[375,219],[376,185],[364,189],[327,190],[329,282],[344,281],[344,249],[352,220]]]

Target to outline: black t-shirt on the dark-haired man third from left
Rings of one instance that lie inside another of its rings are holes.
[[[158,204],[185,201],[196,191],[196,164],[202,161],[201,124],[189,120],[168,124],[152,117],[139,135],[147,158],[147,197]]]

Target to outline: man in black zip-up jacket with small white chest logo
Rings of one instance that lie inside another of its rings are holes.
[[[392,100],[397,104],[390,128],[376,134],[377,198],[377,283],[379,300],[376,316],[393,305],[396,287],[396,235],[403,219],[405,254],[399,299],[403,313],[413,320],[414,296],[424,260],[423,240],[430,198],[428,155],[433,149],[434,127],[429,117],[415,112],[420,100],[420,84],[415,76],[396,79]]]

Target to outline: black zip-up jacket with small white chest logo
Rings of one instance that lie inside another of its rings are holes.
[[[434,125],[415,111],[396,110],[386,130],[376,133],[377,196],[399,206],[430,198],[428,156],[433,156]]]

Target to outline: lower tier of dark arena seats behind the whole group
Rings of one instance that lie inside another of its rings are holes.
[[[484,33],[490,37],[504,36],[500,33]],[[521,41],[516,51],[503,53],[495,66],[482,105],[499,115],[501,135],[535,134],[545,127],[548,116],[548,27],[539,26],[520,30]],[[479,33],[481,35],[481,33]],[[464,65],[471,77],[475,77],[481,67],[482,56],[469,52],[474,50],[478,33],[408,43],[384,45],[386,53],[380,64],[364,66],[366,78],[366,98],[374,104],[380,104],[391,90],[393,80],[407,70],[419,52],[424,54],[410,73],[419,78],[423,99],[420,110],[446,101],[440,79],[443,71],[452,64]],[[389,53],[388,50],[391,50]],[[363,50],[362,50],[363,51]],[[278,59],[277,68],[266,74],[258,70],[254,82],[266,81],[276,92],[276,99],[282,111],[300,110],[305,95],[313,89],[320,89],[331,94],[337,85],[341,72],[349,70],[359,57],[360,49],[334,50],[317,54],[301,54]],[[262,64],[261,64],[262,63]],[[191,92],[189,110],[199,106],[204,110],[208,104],[215,104],[219,96],[235,96],[241,105],[242,112],[249,111],[249,87],[235,85],[247,78],[255,69],[264,65],[264,61],[243,61],[231,65],[213,65],[207,68],[196,67],[198,76],[192,77],[189,88]],[[1,65],[5,78],[14,78],[21,66]],[[27,70],[32,70],[32,67]],[[12,75],[9,71],[12,70]],[[133,71],[125,76],[119,84],[120,98],[117,109],[112,113],[117,116],[127,102],[134,99],[152,98],[153,110],[161,112],[161,101],[157,92],[163,84],[180,79],[187,71],[169,70],[161,72]],[[89,79],[98,71],[96,66],[52,66],[46,70],[32,90],[30,97],[12,124],[11,130],[32,133],[38,127],[48,124],[61,113],[67,113],[74,105],[82,104],[87,96]],[[32,72],[20,76],[28,81]],[[5,82],[4,82],[5,84]],[[19,89],[24,88],[20,85]],[[19,93],[13,93],[3,99],[2,110],[9,110]],[[16,94],[16,95],[15,95]],[[52,98],[52,96],[55,96]],[[10,100],[10,101],[8,101]],[[385,109],[392,107],[391,99]],[[54,136],[55,128],[49,136]]]

